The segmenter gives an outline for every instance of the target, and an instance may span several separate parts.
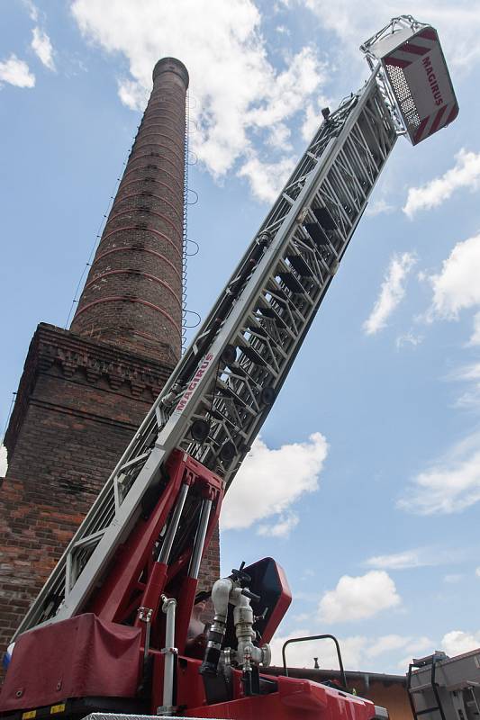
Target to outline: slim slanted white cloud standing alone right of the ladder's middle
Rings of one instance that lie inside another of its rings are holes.
[[[364,322],[363,328],[367,335],[374,335],[385,328],[386,320],[403,300],[404,282],[415,263],[416,258],[412,253],[403,253],[402,256],[394,255],[388,266],[374,309]]]

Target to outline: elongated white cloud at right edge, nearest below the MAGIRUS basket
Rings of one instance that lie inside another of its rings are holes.
[[[403,212],[412,218],[421,210],[430,210],[441,205],[461,187],[478,190],[480,187],[480,153],[467,152],[462,148],[455,156],[457,162],[444,175],[430,180],[421,187],[411,187]]]

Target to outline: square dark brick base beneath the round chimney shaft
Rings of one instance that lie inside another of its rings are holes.
[[[5,436],[0,491],[0,646],[85,517],[171,367],[41,324]],[[218,532],[203,585],[219,574]]]

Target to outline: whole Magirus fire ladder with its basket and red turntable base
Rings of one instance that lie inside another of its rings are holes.
[[[0,715],[308,719],[338,716],[347,701],[359,720],[385,716],[338,689],[261,675],[291,600],[270,558],[215,582],[213,622],[195,635],[205,602],[197,594],[200,563],[224,492],[285,383],[396,139],[415,145],[457,116],[430,25],[394,18],[361,49],[370,78],[335,112],[322,111],[266,220],[14,635]]]

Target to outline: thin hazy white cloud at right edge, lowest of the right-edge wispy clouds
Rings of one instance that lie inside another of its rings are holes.
[[[398,506],[418,515],[448,515],[479,500],[480,434],[476,433],[419,473]]]

